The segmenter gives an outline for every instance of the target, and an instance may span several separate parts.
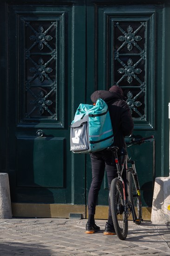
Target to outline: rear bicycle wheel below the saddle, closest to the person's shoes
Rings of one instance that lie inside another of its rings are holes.
[[[124,195],[122,183],[115,178],[110,189],[111,216],[116,234],[120,240],[126,239],[128,233],[127,214],[124,212]]]

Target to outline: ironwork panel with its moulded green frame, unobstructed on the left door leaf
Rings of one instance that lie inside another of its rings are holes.
[[[21,123],[63,123],[64,19],[64,13],[19,16]]]

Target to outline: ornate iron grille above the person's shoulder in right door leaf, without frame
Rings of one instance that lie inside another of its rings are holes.
[[[120,86],[133,118],[145,115],[145,22],[115,22],[114,84]]]

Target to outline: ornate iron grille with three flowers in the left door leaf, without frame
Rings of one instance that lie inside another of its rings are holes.
[[[25,118],[56,119],[57,22],[30,21],[26,26]]]

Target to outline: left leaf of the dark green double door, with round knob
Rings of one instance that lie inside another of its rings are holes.
[[[71,154],[69,128],[85,101],[85,1],[78,2],[1,1],[1,161],[14,216],[85,216],[85,157]]]

